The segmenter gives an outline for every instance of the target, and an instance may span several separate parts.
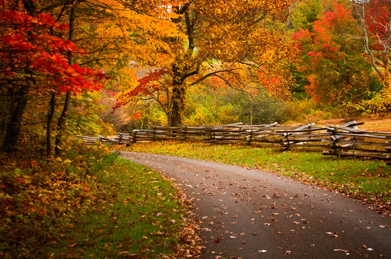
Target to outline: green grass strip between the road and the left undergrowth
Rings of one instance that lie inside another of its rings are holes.
[[[119,159],[103,176],[101,197],[85,208],[50,255],[159,258],[174,256],[185,227],[186,206],[160,174]],[[98,194],[96,194],[98,195]],[[64,247],[66,249],[64,249]],[[178,251],[176,251],[178,252]]]

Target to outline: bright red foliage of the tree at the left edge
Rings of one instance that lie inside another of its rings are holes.
[[[104,71],[69,65],[68,55],[82,54],[73,42],[49,34],[68,28],[50,14],[36,17],[15,10],[0,11],[0,60],[4,72],[0,81],[35,82],[39,91],[94,91],[102,87],[99,80],[107,79]],[[66,32],[65,32],[66,33]],[[28,74],[28,75],[27,75]],[[29,79],[26,79],[29,78]]]

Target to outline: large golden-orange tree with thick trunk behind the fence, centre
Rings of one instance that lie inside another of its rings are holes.
[[[173,6],[178,17],[172,20],[182,36],[167,39],[175,59],[162,67],[171,77],[166,84],[171,126],[182,123],[188,87],[209,77],[242,91],[288,88],[289,75],[282,67],[295,55],[279,23],[287,7],[286,0],[194,0]]]

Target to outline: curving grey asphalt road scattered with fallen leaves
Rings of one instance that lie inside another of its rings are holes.
[[[391,258],[391,214],[277,174],[122,152],[173,179],[195,203],[200,258]],[[315,165],[314,165],[315,166]]]

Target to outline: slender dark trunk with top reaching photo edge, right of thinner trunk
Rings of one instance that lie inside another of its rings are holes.
[[[70,41],[73,41],[73,31],[75,29],[76,5],[77,5],[76,1],[74,1],[73,5],[70,5],[69,36],[68,36],[68,40],[70,40]],[[68,52],[68,64],[72,65],[72,63],[73,63],[73,57],[72,57],[72,53],[69,51]],[[64,130],[65,130],[66,117],[68,116],[70,98],[71,98],[71,93],[69,91],[67,91],[66,95],[65,95],[63,112],[61,113],[61,116],[57,122],[57,135],[56,135],[56,144],[55,144],[56,146],[54,148],[54,155],[55,156],[61,155],[61,145],[63,143],[62,136],[63,136]]]

